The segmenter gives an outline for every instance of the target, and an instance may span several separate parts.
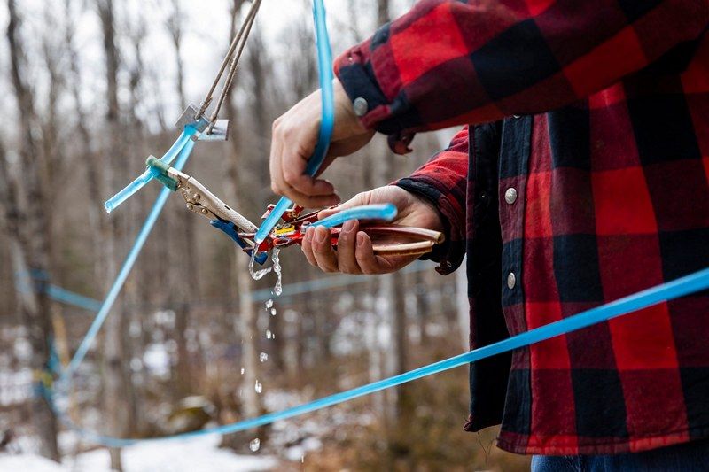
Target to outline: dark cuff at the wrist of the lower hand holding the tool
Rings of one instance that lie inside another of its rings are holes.
[[[447,197],[430,183],[419,181],[416,177],[401,179],[394,185],[419,197],[424,197],[441,214],[440,220],[443,223],[446,241],[433,246],[433,251],[420,259],[438,262],[440,265],[436,267],[436,272],[439,274],[448,275],[456,271],[465,257],[464,228],[459,228],[459,224],[455,223],[459,219],[459,215],[453,210],[452,205],[449,205]]]

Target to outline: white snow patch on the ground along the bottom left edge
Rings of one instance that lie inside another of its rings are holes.
[[[251,472],[277,468],[269,456],[248,456],[219,449],[219,436],[131,445],[123,449],[126,472]],[[19,472],[110,472],[108,450],[66,458],[63,464],[32,454],[0,454],[0,470]]]

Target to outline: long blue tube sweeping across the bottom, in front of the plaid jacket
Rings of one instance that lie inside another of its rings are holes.
[[[531,329],[516,336],[504,339],[503,341],[499,341],[495,344],[489,344],[446,360],[440,360],[439,362],[435,362],[422,368],[410,370],[409,372],[401,375],[394,375],[378,382],[362,385],[361,387],[357,387],[352,390],[342,391],[329,397],[319,398],[315,401],[299,406],[287,408],[279,412],[264,414],[242,422],[234,422],[215,428],[201,429],[199,431],[192,431],[175,436],[155,437],[149,439],[121,439],[116,437],[105,437],[91,433],[84,429],[80,429],[79,433],[97,444],[106,445],[108,447],[123,447],[126,445],[136,444],[138,442],[175,440],[211,434],[230,434],[243,431],[245,429],[253,429],[272,422],[287,420],[295,416],[300,416],[301,414],[311,413],[329,406],[339,405],[354,398],[364,397],[370,393],[383,391],[397,385],[401,385],[401,383],[408,383],[428,375],[438,374],[451,368],[456,368],[471,362],[487,359],[503,352],[510,352],[520,347],[536,344],[552,337],[557,337],[579,329],[588,328],[589,326],[602,321],[608,321],[612,318],[647,308],[648,306],[657,305],[658,303],[664,301],[673,300],[674,298],[680,298],[706,289],[709,289],[709,268],[700,270],[694,274],[686,275],[672,282],[666,282],[656,287],[652,287],[651,289],[643,290],[633,295],[628,295],[624,298],[619,298],[614,302],[604,306],[597,306],[596,308],[575,314],[565,318],[564,320],[555,321],[541,326],[540,328]]]

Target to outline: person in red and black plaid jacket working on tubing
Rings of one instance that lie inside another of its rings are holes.
[[[448,274],[467,254],[471,348],[709,267],[709,3],[425,0],[335,62],[329,165],[375,132],[465,125],[448,149],[344,208],[393,202],[440,229]],[[275,123],[271,186],[339,203],[303,174],[316,92]],[[328,214],[336,210],[330,210]],[[323,271],[383,274],[357,222],[338,251],[310,228]],[[471,365],[465,429],[535,470],[709,469],[709,294],[661,303]]]

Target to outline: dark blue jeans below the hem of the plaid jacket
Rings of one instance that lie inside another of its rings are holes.
[[[543,456],[532,458],[532,472],[700,472],[709,471],[709,441],[661,447],[643,453]]]

